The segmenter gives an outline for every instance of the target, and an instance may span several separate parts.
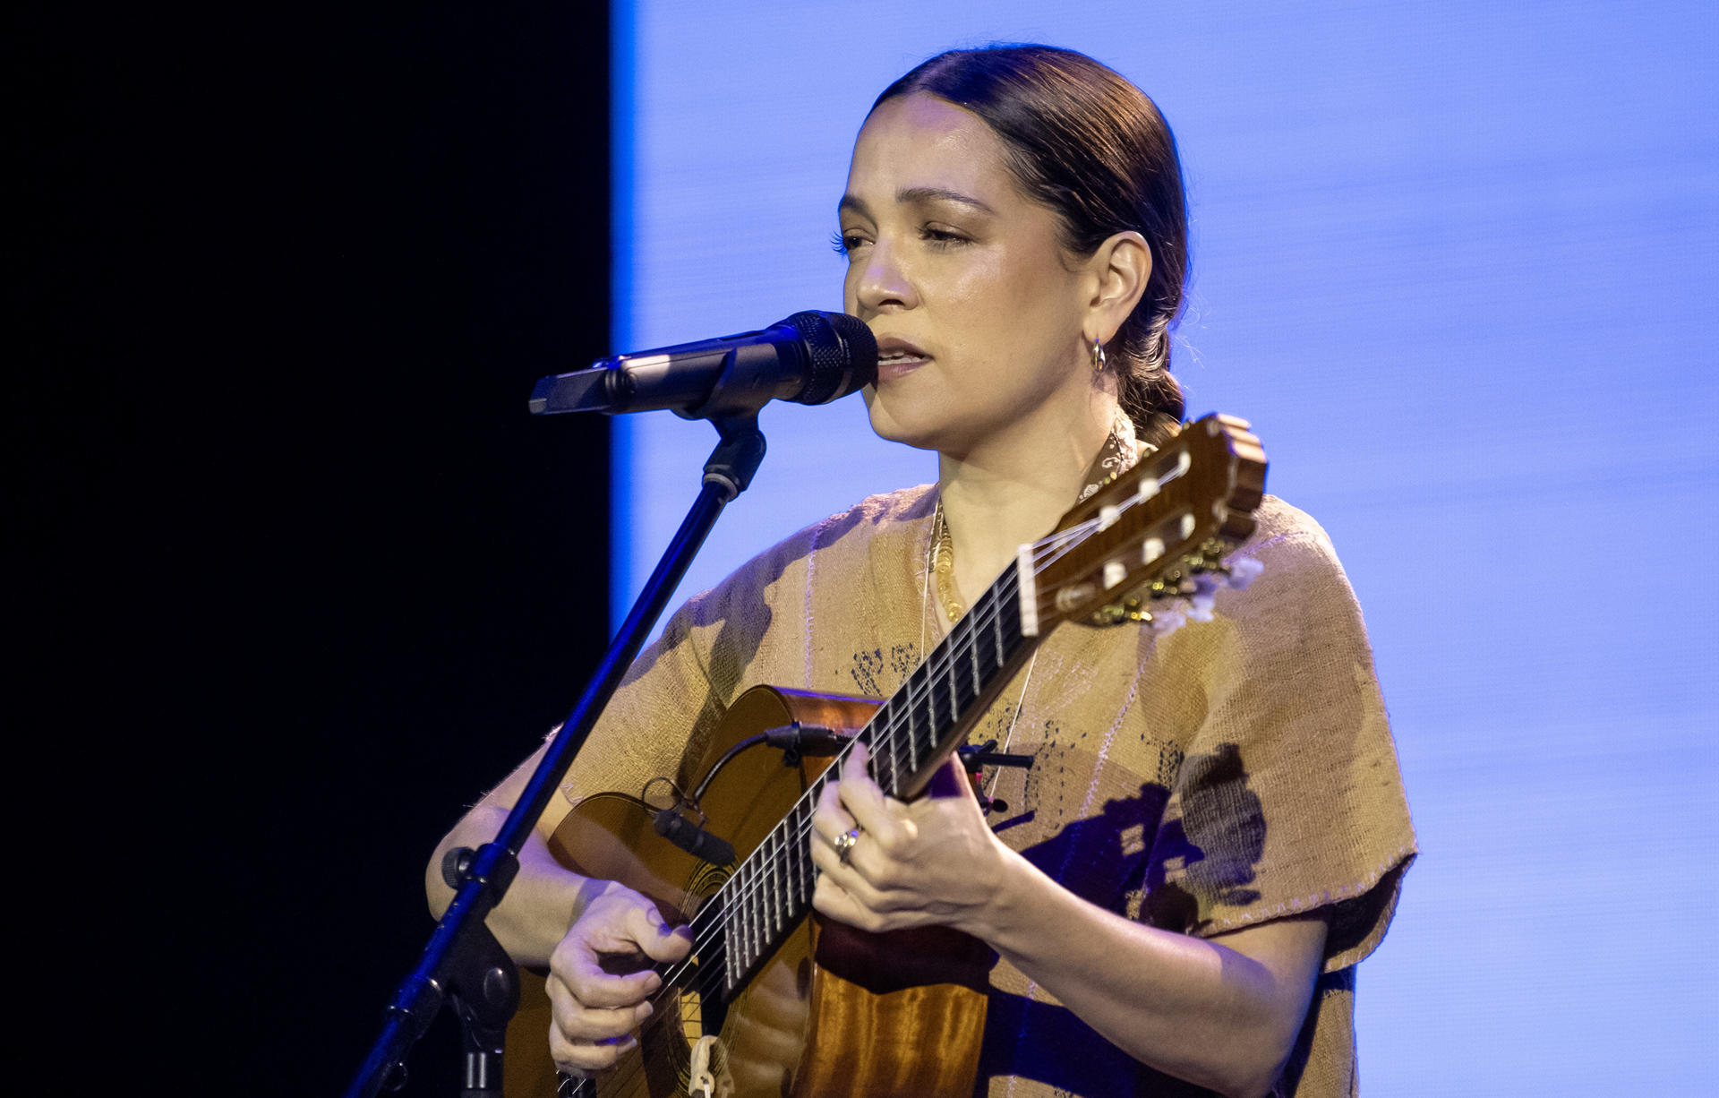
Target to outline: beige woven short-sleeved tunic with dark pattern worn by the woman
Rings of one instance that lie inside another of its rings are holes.
[[[892,694],[942,636],[925,598],[935,500],[932,486],[872,497],[689,600],[629,670],[567,796],[677,773],[753,686]],[[973,739],[1033,754],[1030,772],[1002,772],[1009,811],[994,825],[1093,904],[1200,936],[1327,907],[1324,974],[1279,1093],[1353,1095],[1353,966],[1384,938],[1415,835],[1331,543],[1270,497],[1257,519],[1239,555],[1265,570],[1220,593],[1215,620],[1162,639],[1064,625],[1025,696],[1018,679]],[[1205,1091],[1135,1062],[999,962],[976,1093]]]

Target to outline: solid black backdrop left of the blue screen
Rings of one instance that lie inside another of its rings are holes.
[[[237,7],[12,15],[19,772],[72,1055],[318,1095],[607,641],[607,7]]]

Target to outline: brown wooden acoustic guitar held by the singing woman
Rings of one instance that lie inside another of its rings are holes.
[[[543,978],[521,973],[505,1093],[971,1095],[994,954],[947,928],[872,935],[808,918],[825,770],[863,737],[884,792],[913,799],[1061,622],[1167,632],[1210,619],[1215,591],[1258,570],[1226,555],[1253,533],[1263,490],[1265,452],[1245,421],[1186,424],[1023,545],[887,701],[755,687],[686,772],[691,790],[662,780],[652,801],[583,797],[550,839],[555,857],[689,923],[693,954],[658,966],[639,1045],[591,1079],[557,1076]]]

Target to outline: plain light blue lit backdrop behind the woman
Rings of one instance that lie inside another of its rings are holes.
[[[854,131],[928,53],[1049,41],[1135,79],[1193,198],[1190,409],[1251,419],[1331,531],[1422,837],[1360,974],[1367,1091],[1712,1093],[1714,10],[622,5],[614,347],[839,309]],[[617,428],[619,615],[713,433]],[[763,428],[682,595],[935,476],[858,399]]]

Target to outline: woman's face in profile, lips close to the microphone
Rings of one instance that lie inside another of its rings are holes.
[[[866,402],[884,438],[966,457],[1092,399],[1095,284],[1004,156],[978,115],[928,95],[889,100],[854,143],[844,302],[878,337]]]

